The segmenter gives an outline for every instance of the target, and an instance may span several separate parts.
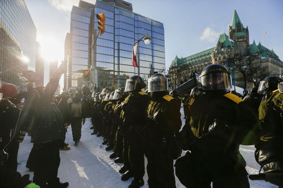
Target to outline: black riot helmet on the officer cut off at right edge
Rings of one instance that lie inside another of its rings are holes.
[[[278,76],[269,76],[259,83],[257,93],[266,94],[278,88],[278,83],[283,82],[283,79]]]

